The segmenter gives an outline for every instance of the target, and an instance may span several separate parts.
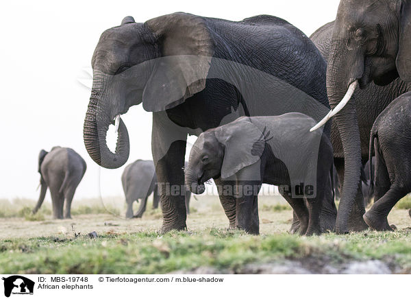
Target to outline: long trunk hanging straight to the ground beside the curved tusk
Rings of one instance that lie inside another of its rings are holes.
[[[351,56],[351,57],[350,57]],[[361,64],[356,62],[356,56],[352,53],[347,55],[344,47],[333,45],[330,51],[329,64],[327,67],[327,95],[332,109],[340,104],[351,83],[361,77],[364,69]],[[351,61],[349,61],[351,58]],[[343,70],[351,66],[351,73]],[[340,132],[345,158],[345,172],[342,197],[338,207],[336,219],[336,232],[341,234],[348,232],[349,215],[356,202],[358,184],[360,183],[361,171],[361,147],[360,130],[356,115],[355,99],[347,102],[344,108],[335,116],[336,126]]]

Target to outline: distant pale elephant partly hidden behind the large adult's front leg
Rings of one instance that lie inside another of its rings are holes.
[[[127,211],[125,217],[140,218],[145,212],[147,199],[153,193],[153,209],[158,208],[160,195],[158,194],[157,176],[153,160],[136,160],[134,163],[127,165],[121,176]],[[191,192],[186,191],[186,212],[190,213],[190,196]],[[133,202],[142,200],[140,208],[136,215],[133,213]]]

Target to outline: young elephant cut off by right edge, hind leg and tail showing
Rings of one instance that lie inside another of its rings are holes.
[[[374,204],[363,218],[374,230],[393,230],[388,224],[388,213],[411,191],[411,92],[397,97],[375,119],[370,159],[374,152]],[[369,174],[373,189],[373,167]]]

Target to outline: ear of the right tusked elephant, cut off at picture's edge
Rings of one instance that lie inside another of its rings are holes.
[[[397,71],[403,81],[411,82],[411,1],[402,1],[399,24]]]

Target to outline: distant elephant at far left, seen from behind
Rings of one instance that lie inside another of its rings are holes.
[[[86,169],[87,165],[83,158],[69,147],[56,146],[50,152],[41,150],[38,155],[41,190],[33,213],[37,213],[45,200],[47,188],[49,188],[53,204],[53,217],[63,219],[65,200],[64,218],[71,218],[71,202],[75,189],[82,180]]]

